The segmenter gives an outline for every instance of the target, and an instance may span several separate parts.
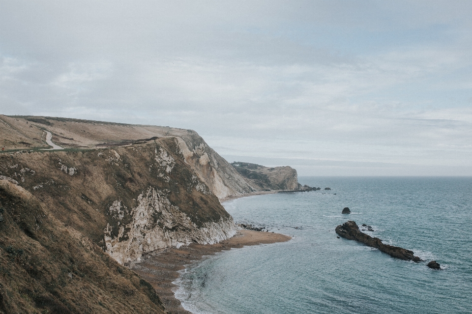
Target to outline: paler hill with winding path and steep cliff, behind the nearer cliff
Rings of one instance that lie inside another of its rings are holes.
[[[220,200],[259,191],[257,185],[241,176],[192,130],[59,117],[0,115],[0,146],[4,151],[48,148],[46,131],[52,133],[53,143],[68,150],[121,147],[176,138],[184,162]]]

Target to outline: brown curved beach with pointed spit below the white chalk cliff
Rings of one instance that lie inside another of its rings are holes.
[[[172,282],[180,276],[179,270],[218,252],[244,246],[286,242],[290,239],[292,237],[281,233],[242,229],[233,237],[216,244],[192,243],[178,249],[167,248],[160,252],[151,252],[144,255],[140,262],[132,262],[130,268],[154,287],[166,311],[172,314],[192,314],[183,309],[174,294],[177,286]]]

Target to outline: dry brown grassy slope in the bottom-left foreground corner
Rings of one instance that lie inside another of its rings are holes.
[[[167,313],[148,282],[52,214],[24,183],[36,175],[0,178],[0,313]]]

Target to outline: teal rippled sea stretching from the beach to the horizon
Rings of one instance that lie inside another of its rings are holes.
[[[330,191],[223,203],[236,222],[293,236],[190,265],[177,280],[195,314],[472,313],[471,177],[300,177]],[[352,211],[342,215],[344,207]],[[392,258],[334,228],[348,220],[427,262]]]

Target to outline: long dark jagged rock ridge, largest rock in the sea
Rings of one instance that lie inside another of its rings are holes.
[[[379,249],[379,251],[390,255],[391,257],[400,258],[403,260],[413,260],[414,262],[423,261],[421,258],[414,256],[413,251],[400,248],[398,246],[383,244],[379,238],[373,238],[368,234],[359,231],[354,221],[345,222],[335,229],[336,233],[343,238],[355,240],[364,243],[372,248]]]

